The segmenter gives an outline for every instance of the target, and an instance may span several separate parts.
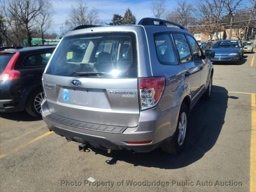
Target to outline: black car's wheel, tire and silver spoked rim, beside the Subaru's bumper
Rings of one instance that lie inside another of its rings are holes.
[[[33,117],[41,117],[41,102],[44,99],[42,88],[34,89],[28,96],[25,110]]]

